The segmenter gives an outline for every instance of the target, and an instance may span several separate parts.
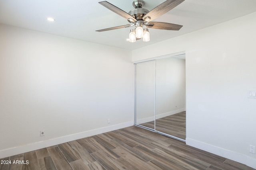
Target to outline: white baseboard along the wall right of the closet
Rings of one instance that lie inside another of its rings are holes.
[[[236,162],[239,162],[241,164],[245,164],[247,166],[250,166],[252,168],[256,169],[256,159],[243,155],[243,154],[239,154],[236,152],[233,152],[231,150],[226,150],[223,148],[219,148],[213,145],[209,145],[207,143],[203,143],[200,141],[196,141],[194,139],[190,139],[190,138],[186,138],[186,145],[189,145],[191,147],[195,147],[198,149],[202,149],[204,151],[216,154],[218,156],[222,156],[224,158],[228,158],[230,160],[234,160]]]

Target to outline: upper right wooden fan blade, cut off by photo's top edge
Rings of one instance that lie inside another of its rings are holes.
[[[166,0],[162,4],[158,5],[156,8],[148,12],[142,19],[149,22],[154,20],[166,12],[170,11],[172,8],[178,6],[184,0]]]

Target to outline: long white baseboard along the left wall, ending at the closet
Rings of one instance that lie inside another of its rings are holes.
[[[8,156],[13,156],[16,154],[21,154],[21,153],[26,153],[26,152],[30,152],[33,150],[38,150],[38,149],[42,149],[42,148],[46,148],[46,147],[51,147],[54,145],[59,145],[61,143],[66,143],[66,142],[70,142],[70,141],[74,141],[77,139],[82,139],[84,137],[90,137],[93,135],[98,135],[100,133],[105,133],[105,132],[109,132],[109,131],[114,131],[117,129],[122,129],[124,127],[129,127],[134,125],[133,121],[129,121],[129,122],[125,122],[125,123],[120,123],[117,125],[112,125],[112,126],[108,126],[108,127],[102,127],[99,129],[93,129],[90,131],[84,131],[81,133],[76,133],[76,134],[72,134],[72,135],[67,135],[67,136],[63,136],[63,137],[58,137],[58,138],[54,138],[54,139],[49,139],[46,141],[40,141],[37,143],[30,143],[28,145],[23,145],[23,146],[18,146],[18,147],[13,147],[13,148],[8,148],[8,149],[4,149],[4,150],[0,150],[0,158],[6,158]]]

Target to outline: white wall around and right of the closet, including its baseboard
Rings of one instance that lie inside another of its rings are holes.
[[[132,51],[133,61],[186,51],[186,143],[254,168],[249,145],[256,146],[256,99],[247,91],[256,90],[255,18]]]

